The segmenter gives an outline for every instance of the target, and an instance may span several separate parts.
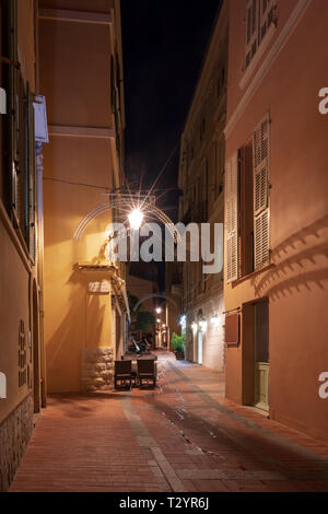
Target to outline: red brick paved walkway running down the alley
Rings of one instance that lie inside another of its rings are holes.
[[[218,373],[159,364],[155,390],[51,397],[11,491],[328,491],[328,446],[225,401]]]

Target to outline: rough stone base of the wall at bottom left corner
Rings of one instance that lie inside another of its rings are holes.
[[[0,424],[0,491],[7,491],[33,432],[33,397],[22,404]]]

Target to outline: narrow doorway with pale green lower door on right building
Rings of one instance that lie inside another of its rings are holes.
[[[269,303],[255,305],[255,406],[269,410]]]

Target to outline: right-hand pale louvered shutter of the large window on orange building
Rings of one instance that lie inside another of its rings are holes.
[[[269,261],[269,159],[270,119],[267,115],[253,136],[255,269]]]

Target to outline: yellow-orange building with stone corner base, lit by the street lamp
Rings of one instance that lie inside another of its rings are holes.
[[[44,152],[48,390],[106,389],[128,318],[124,266],[106,254],[115,211],[95,218],[79,241],[73,235],[122,184],[119,1],[40,0],[38,20],[50,135]]]

